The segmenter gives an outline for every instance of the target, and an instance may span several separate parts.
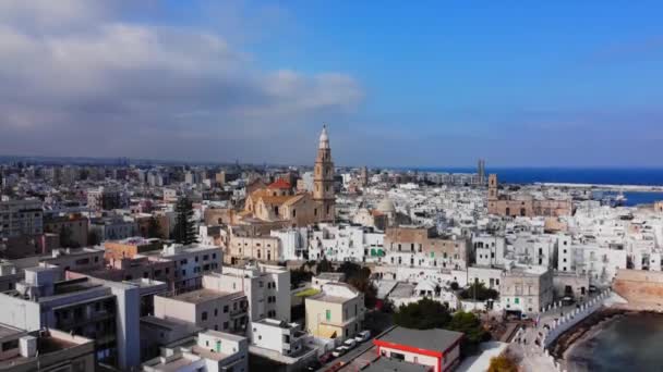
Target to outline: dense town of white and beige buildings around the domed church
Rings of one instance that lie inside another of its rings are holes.
[[[525,320],[662,269],[663,204],[501,185],[483,160],[335,166],[327,127],[314,148],[1,164],[0,369],[471,370]]]

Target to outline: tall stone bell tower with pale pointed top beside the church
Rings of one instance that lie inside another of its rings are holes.
[[[334,162],[327,135],[327,125],[323,125],[317,145],[317,157],[313,174],[313,199],[316,201],[315,220],[333,222],[335,216],[336,196],[334,193]]]

